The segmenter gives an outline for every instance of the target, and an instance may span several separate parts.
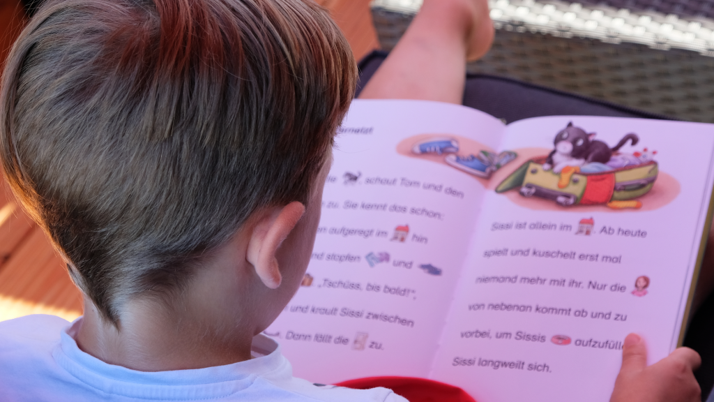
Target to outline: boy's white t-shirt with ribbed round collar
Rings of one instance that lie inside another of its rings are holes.
[[[278,344],[263,335],[252,347],[261,357],[226,366],[154,373],[113,366],[77,347],[79,320],[28,315],[0,323],[0,401],[406,402],[386,388],[316,386],[294,378]]]

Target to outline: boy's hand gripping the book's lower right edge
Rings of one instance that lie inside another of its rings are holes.
[[[610,402],[700,402],[701,389],[693,371],[701,362],[694,350],[678,348],[647,366],[645,343],[630,333],[623,343],[623,366]]]

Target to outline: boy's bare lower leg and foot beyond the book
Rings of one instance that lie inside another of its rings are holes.
[[[461,104],[466,61],[486,54],[492,41],[486,0],[425,0],[360,98]]]

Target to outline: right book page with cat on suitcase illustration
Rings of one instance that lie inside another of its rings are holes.
[[[546,170],[569,123],[625,144],[607,162]],[[503,147],[519,157],[484,197],[432,378],[483,402],[608,401],[628,333],[649,364],[667,356],[707,223],[713,134],[615,117],[511,124]]]

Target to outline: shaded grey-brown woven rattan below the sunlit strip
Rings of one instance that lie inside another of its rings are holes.
[[[411,16],[373,9],[385,50],[393,48]],[[714,57],[607,44],[528,31],[496,31],[491,52],[469,72],[520,79],[648,112],[714,123]]]

